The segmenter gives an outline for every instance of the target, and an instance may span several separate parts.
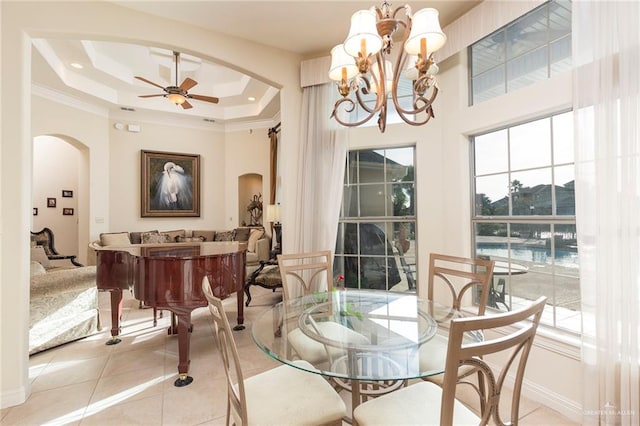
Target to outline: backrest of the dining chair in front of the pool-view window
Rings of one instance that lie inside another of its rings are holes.
[[[478,287],[478,315],[484,315],[489,297],[495,262],[431,253],[429,256],[429,281],[427,299],[434,300],[435,287],[445,285],[451,295],[451,306],[459,310],[468,290]]]

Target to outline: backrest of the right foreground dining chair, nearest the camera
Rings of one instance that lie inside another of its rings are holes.
[[[540,297],[529,307],[503,314],[456,318],[451,321],[442,386],[441,425],[453,424],[458,371],[461,366],[465,365],[476,369],[483,378],[482,386],[484,389],[478,391],[483,398],[481,405],[484,406],[480,424],[486,425],[491,419],[498,425],[518,424],[524,370],[546,300],[546,297]],[[484,333],[486,330],[498,328],[501,329],[501,332],[496,337],[487,339],[485,333],[485,340],[480,343],[469,345],[464,343],[465,333]],[[493,371],[484,357],[499,352],[505,352],[508,357],[499,371]],[[505,423],[499,409],[500,397],[503,394],[502,387],[505,379],[507,374],[510,374],[512,367],[515,368],[515,383],[513,384],[510,418]]]

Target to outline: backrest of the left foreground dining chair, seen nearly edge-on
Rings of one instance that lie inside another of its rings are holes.
[[[222,366],[227,378],[227,407],[232,410],[234,421],[240,420],[241,425],[248,424],[247,402],[244,389],[244,376],[240,366],[240,356],[238,348],[231,331],[231,325],[222,305],[222,300],[213,295],[209,279],[205,276],[202,279],[202,292],[209,302],[209,312],[213,317],[215,326],[215,336],[222,358]],[[230,412],[227,410],[227,425]]]

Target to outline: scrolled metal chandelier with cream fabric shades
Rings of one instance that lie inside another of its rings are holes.
[[[404,19],[399,15],[404,15]],[[395,52],[394,64],[393,36],[400,27],[404,28],[403,49]],[[354,13],[344,43],[331,49],[329,78],[337,82],[338,92],[342,95],[334,105],[331,117],[343,126],[355,127],[377,113],[378,128],[384,132],[390,94],[404,122],[412,126],[425,124],[434,116],[432,104],[438,95],[435,78],[438,66],[433,53],[444,46],[446,39],[440,28],[438,11],[433,8],[412,13],[411,7],[404,5],[392,11],[391,4],[384,1],[379,8],[373,6]],[[408,109],[398,101],[398,83],[403,74],[413,81]],[[366,95],[374,95],[375,102]],[[349,114],[358,113],[356,102],[364,111],[364,117],[345,121]]]

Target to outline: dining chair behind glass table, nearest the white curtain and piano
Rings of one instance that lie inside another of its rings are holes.
[[[332,260],[333,255],[330,250],[278,255],[284,299],[322,292],[331,294],[334,291]],[[355,345],[371,343],[367,336],[334,321],[319,322],[316,323],[316,327],[318,333],[327,338],[334,337],[334,340],[345,340]],[[343,349],[329,347],[313,340],[297,327],[287,334],[287,341],[300,358],[312,364],[331,363],[345,355]],[[348,379],[333,378],[332,383],[337,390],[352,391],[352,382]],[[359,382],[361,400],[366,401],[394,391],[405,384],[406,381],[403,380],[384,382],[361,380]]]

